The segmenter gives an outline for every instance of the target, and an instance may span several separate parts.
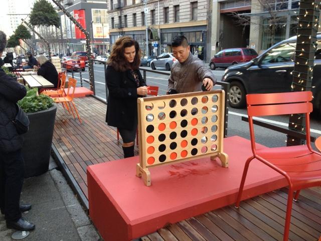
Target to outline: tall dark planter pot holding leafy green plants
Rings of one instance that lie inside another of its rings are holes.
[[[23,135],[22,149],[25,159],[25,177],[41,175],[48,171],[51,143],[54,134],[57,106],[28,113],[29,131]]]

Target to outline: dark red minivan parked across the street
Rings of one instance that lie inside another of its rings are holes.
[[[255,57],[257,57],[257,53],[254,49],[223,49],[211,59],[210,67],[212,70],[216,69],[217,67],[226,68],[233,64],[248,62]]]

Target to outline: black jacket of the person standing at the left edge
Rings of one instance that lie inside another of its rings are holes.
[[[22,148],[23,139],[12,121],[17,115],[16,102],[26,93],[25,86],[0,68],[0,153],[11,153]]]

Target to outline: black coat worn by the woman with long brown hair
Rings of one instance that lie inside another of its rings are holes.
[[[145,86],[140,71],[138,70],[139,86]],[[130,73],[116,71],[112,66],[106,70],[106,83],[108,87],[108,102],[106,122],[109,126],[118,129],[133,130],[134,119],[137,119],[137,84]]]

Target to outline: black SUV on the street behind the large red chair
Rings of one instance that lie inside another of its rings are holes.
[[[296,36],[275,44],[250,62],[228,67],[222,81],[231,84],[230,105],[234,108],[245,107],[248,93],[290,92],[295,46]],[[312,103],[313,108],[321,113],[321,35],[317,35],[315,53]]]

